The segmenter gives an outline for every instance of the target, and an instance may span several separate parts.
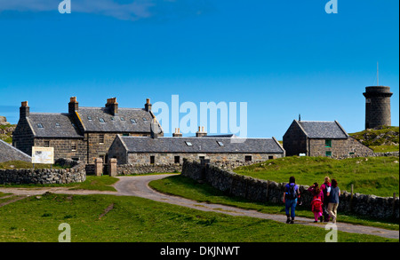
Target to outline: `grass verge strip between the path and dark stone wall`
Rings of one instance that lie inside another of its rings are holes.
[[[268,214],[282,214],[284,215],[284,206],[274,203],[261,203],[248,201],[243,198],[231,197],[228,194],[223,193],[211,185],[200,184],[195,180],[182,177],[172,176],[163,179],[155,180],[149,183],[150,187],[156,189],[161,193],[169,193],[172,195],[188,198],[190,200],[199,202],[208,202],[215,204],[223,204],[233,206],[241,209],[253,209],[262,213]],[[309,209],[298,207],[296,209],[296,215],[299,217],[310,217],[314,215]],[[370,225],[390,230],[398,230],[399,225],[393,221],[381,221],[372,219],[369,217],[343,215],[340,213],[338,217],[339,222],[346,222],[355,225]]]

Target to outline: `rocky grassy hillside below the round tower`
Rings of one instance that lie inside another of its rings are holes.
[[[369,129],[350,133],[349,135],[362,142],[364,146],[372,148],[375,153],[394,152],[399,150],[398,126],[382,126],[372,130]]]

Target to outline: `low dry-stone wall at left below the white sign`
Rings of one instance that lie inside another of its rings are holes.
[[[0,169],[0,184],[69,184],[86,180],[84,163],[71,169]]]

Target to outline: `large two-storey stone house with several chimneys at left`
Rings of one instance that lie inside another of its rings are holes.
[[[24,101],[12,145],[26,154],[32,154],[32,146],[54,147],[55,160],[70,158],[92,164],[95,158],[102,158],[107,162],[109,146],[117,134],[150,136],[154,120],[149,99],[144,108],[120,108],[116,98],[108,98],[103,107],[87,107],[79,106],[73,97],[68,113],[30,113],[28,101]]]

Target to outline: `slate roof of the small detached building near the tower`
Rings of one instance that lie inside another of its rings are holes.
[[[296,121],[306,132],[308,138],[346,139],[348,133],[343,130],[339,122],[324,121]]]

